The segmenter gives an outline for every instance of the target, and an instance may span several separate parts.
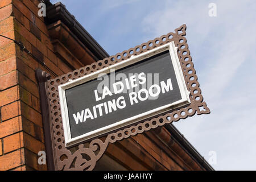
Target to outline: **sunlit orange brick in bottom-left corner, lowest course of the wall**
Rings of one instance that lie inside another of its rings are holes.
[[[0,170],[5,171],[8,169],[13,169],[15,167],[22,166],[24,164],[24,149],[16,150],[14,152],[11,152],[9,154],[0,156]]]

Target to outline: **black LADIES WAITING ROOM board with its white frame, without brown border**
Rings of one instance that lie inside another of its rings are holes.
[[[190,104],[174,42],[59,85],[66,147]]]

